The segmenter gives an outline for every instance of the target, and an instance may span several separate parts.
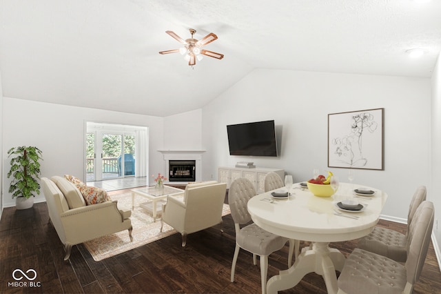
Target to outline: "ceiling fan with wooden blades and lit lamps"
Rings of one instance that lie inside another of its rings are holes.
[[[176,35],[173,31],[171,30],[165,31],[168,35],[174,37],[174,39],[176,39],[179,43],[182,43],[184,47],[180,49],[161,51],[159,52],[159,54],[180,52],[182,55],[185,55],[184,58],[185,60],[188,61],[189,66],[194,66],[196,64],[196,59],[200,61],[203,58],[202,55],[217,59],[223,59],[223,54],[201,49],[203,46],[207,45],[208,43],[212,43],[212,41],[218,39],[218,36],[210,32],[208,35],[206,35],[205,37],[203,37],[201,40],[198,41],[193,38],[193,35],[196,32],[196,30],[190,28],[189,31],[190,34],[192,34],[192,37],[186,39],[185,41],[181,37]]]

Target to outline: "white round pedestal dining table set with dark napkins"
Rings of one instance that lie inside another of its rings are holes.
[[[353,192],[356,188],[367,188],[375,193],[360,196]],[[286,188],[276,189],[285,192]],[[267,293],[277,293],[292,288],[307,275],[322,275],[328,293],[337,293],[336,270],[342,271],[345,255],[330,242],[342,242],[368,235],[378,223],[381,210],[387,199],[382,190],[357,184],[340,183],[337,193],[331,197],[314,196],[300,183],[294,184],[287,198],[272,197],[269,191],[252,197],[248,211],[255,224],[261,228],[289,239],[311,242],[296,262],[267,282]],[[355,199],[362,204],[360,211],[349,212],[338,208],[343,199]]]

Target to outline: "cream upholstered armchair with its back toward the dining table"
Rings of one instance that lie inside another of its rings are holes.
[[[167,197],[161,215],[161,232],[163,224],[169,224],[181,233],[185,247],[188,234],[222,224],[226,190],[227,184],[210,181],[188,184],[183,194]]]

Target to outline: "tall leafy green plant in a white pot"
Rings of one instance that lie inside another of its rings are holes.
[[[34,193],[40,194],[37,179],[40,175],[41,150],[34,146],[13,147],[8,150],[8,157],[12,157],[8,173],[8,179],[12,176],[9,193],[12,193],[12,198],[17,197],[17,209],[31,208],[34,205]]]

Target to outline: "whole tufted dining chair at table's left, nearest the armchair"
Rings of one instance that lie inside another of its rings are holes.
[[[228,204],[234,220],[236,230],[236,248],[232,263],[231,282],[234,282],[234,271],[236,269],[237,257],[240,248],[253,254],[254,265],[257,264],[256,255],[260,259],[260,278],[262,282],[262,293],[265,294],[267,288],[268,255],[278,251],[286,242],[289,241],[288,267],[291,266],[294,242],[285,237],[280,237],[269,233],[252,222],[251,215],[248,213],[248,200],[256,195],[256,189],[249,179],[238,178],[229,186]],[[272,204],[271,204],[272,205]],[[241,225],[247,224],[243,228]]]

